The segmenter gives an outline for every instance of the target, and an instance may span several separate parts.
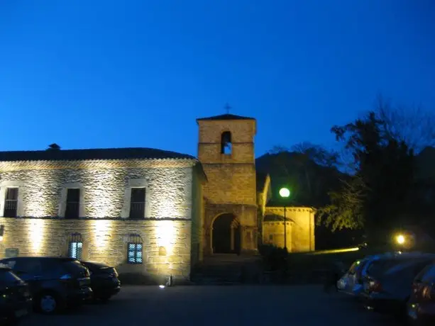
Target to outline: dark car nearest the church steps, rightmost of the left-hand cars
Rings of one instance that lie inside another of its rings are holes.
[[[90,271],[94,298],[106,301],[121,291],[121,282],[114,267],[101,262],[82,262],[82,264]]]

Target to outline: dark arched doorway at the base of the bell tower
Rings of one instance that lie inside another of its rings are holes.
[[[219,215],[213,222],[211,235],[214,254],[240,253],[240,223],[233,214]]]

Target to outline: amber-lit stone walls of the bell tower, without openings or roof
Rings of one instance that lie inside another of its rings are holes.
[[[204,253],[212,253],[213,223],[231,213],[241,225],[241,252],[257,249],[257,192],[254,156],[255,120],[199,120],[198,159],[204,185]],[[231,154],[221,153],[221,135],[231,133]],[[230,225],[228,225],[229,230]]]

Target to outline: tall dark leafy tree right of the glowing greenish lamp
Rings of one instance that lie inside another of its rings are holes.
[[[331,204],[321,208],[318,223],[333,230],[365,227],[374,233],[407,218],[414,151],[407,144],[402,120],[387,115],[389,110],[382,104],[353,123],[331,128],[351,154],[353,174],[339,191],[329,193]]]

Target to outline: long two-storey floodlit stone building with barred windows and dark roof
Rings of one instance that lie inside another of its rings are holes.
[[[69,255],[188,279],[205,180],[197,159],[162,150],[0,152],[1,256]]]

